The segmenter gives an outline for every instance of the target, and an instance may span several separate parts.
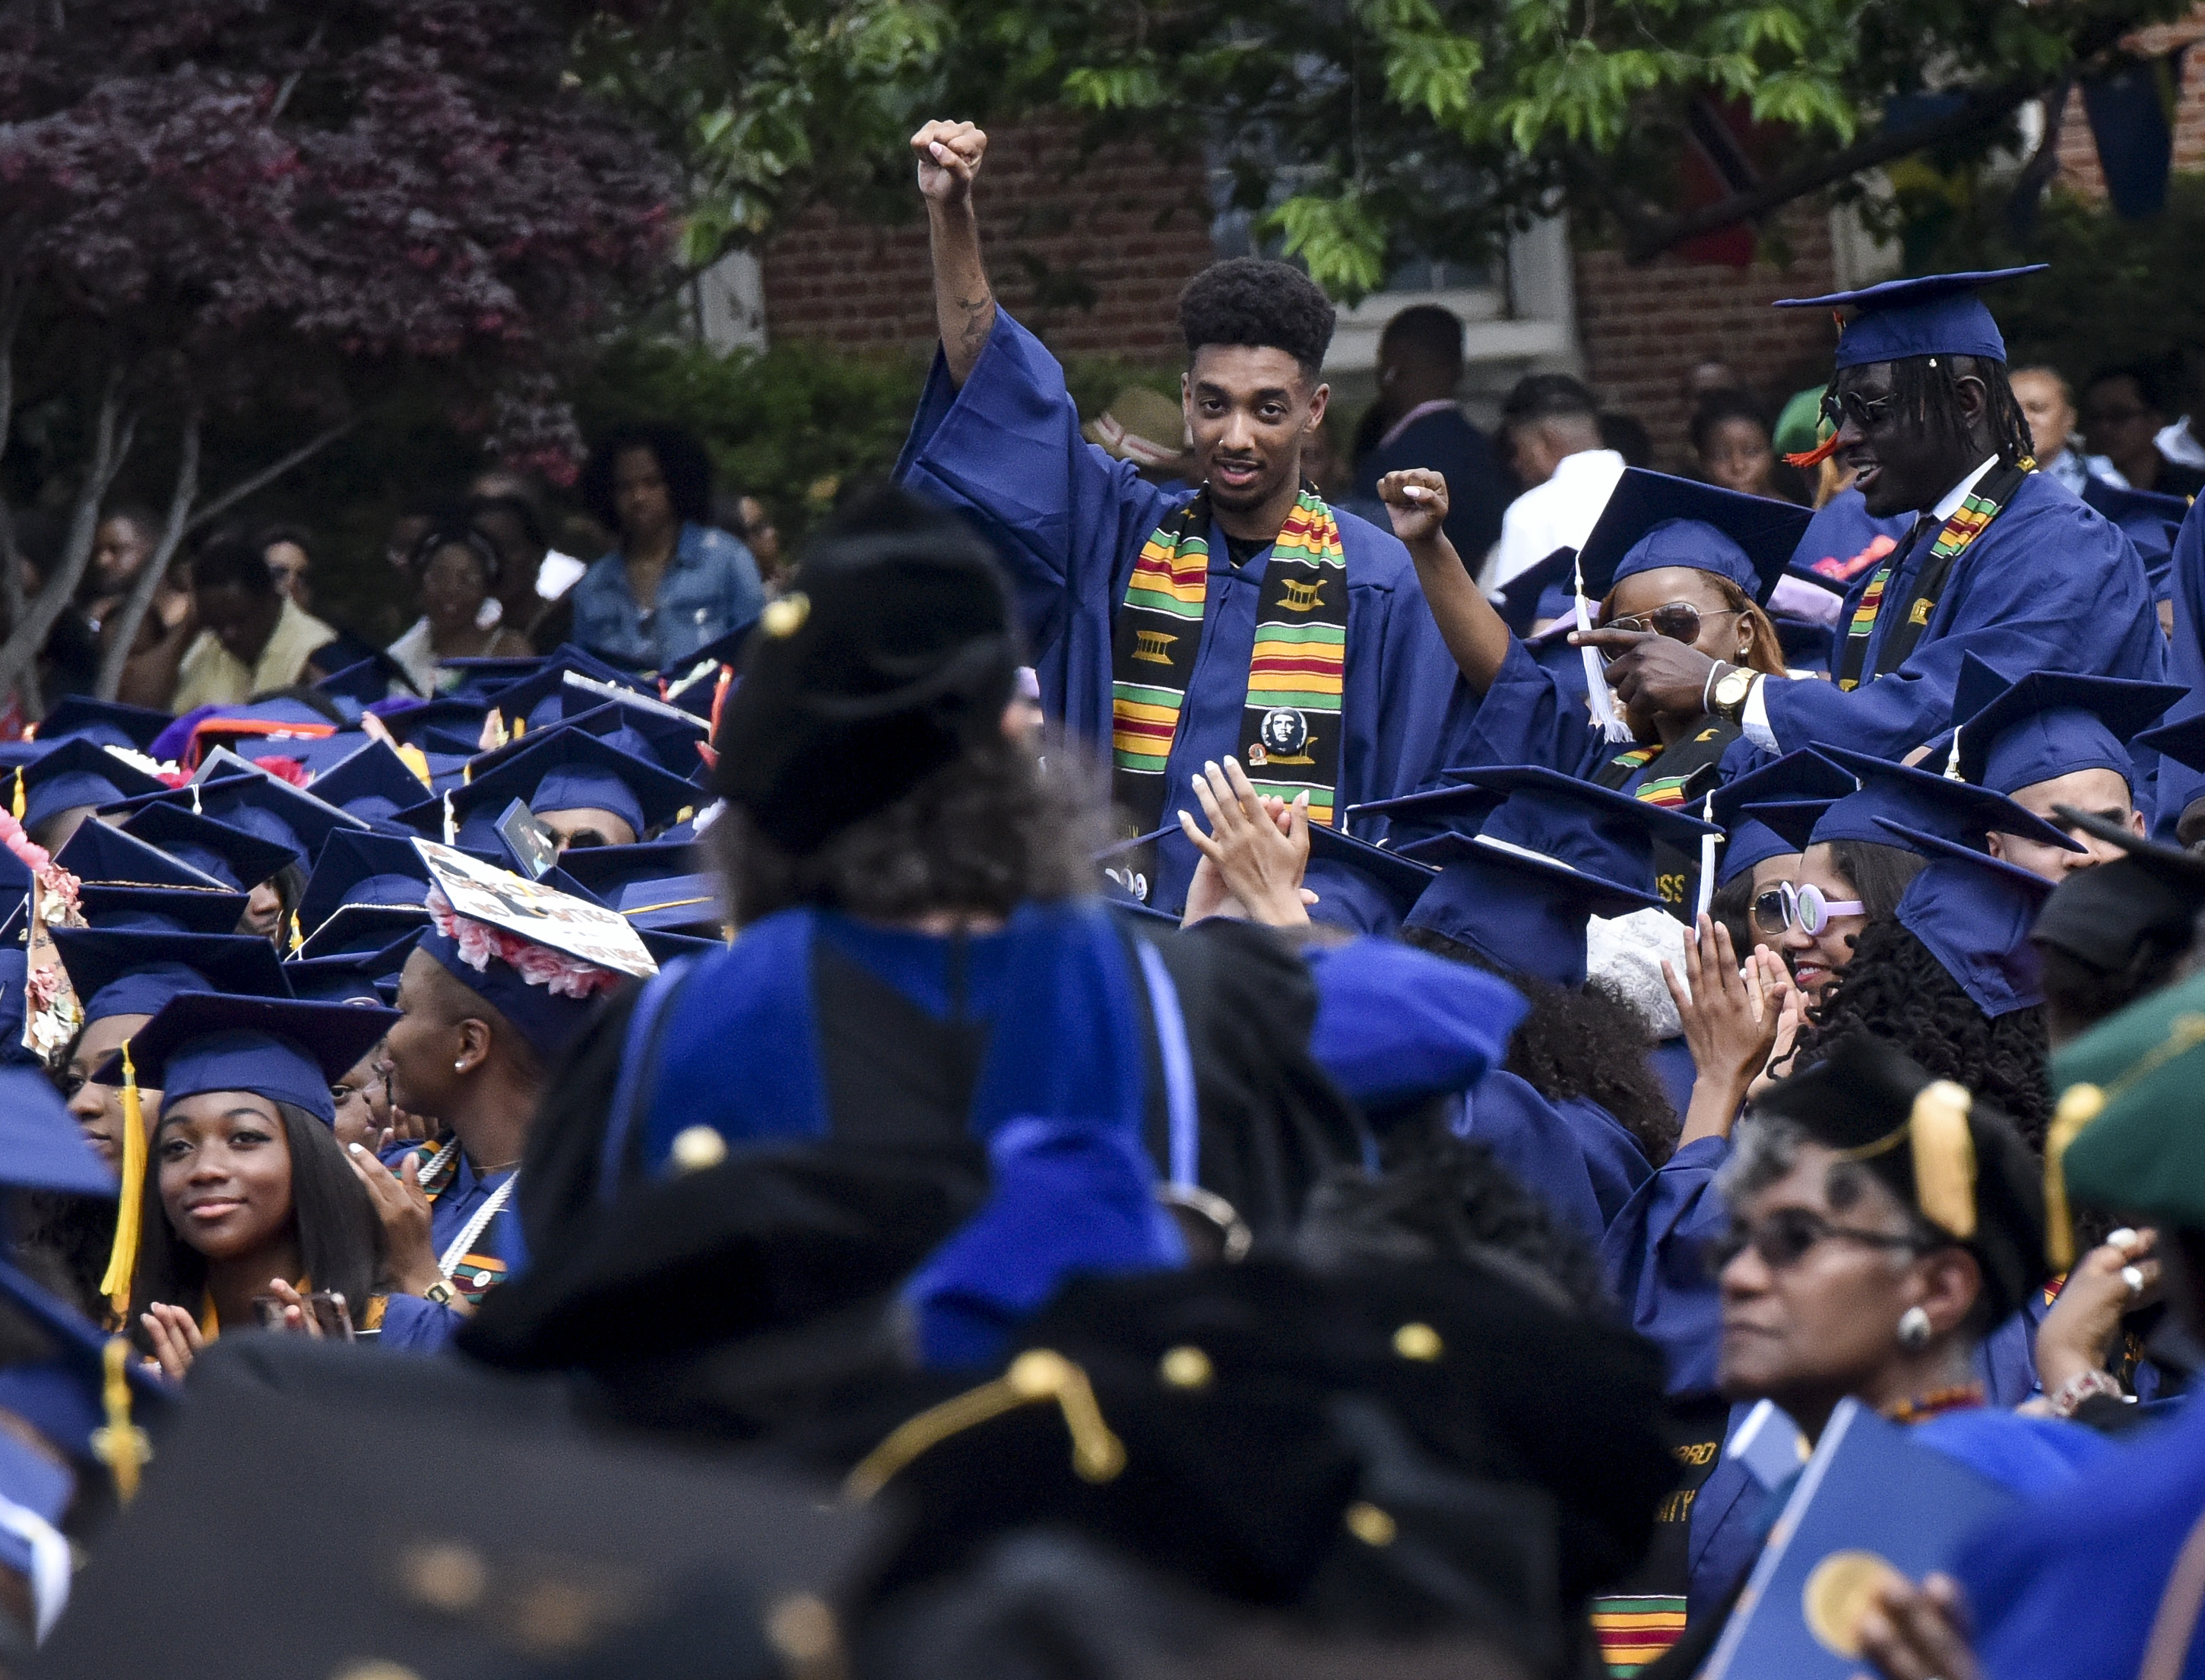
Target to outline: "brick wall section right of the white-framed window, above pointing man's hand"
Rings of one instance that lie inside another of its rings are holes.
[[[1577,251],[1577,331],[1585,381],[1614,410],[1654,434],[1656,465],[1682,465],[1685,375],[1700,362],[1729,362],[1768,406],[1828,377],[1830,317],[1813,309],[1771,309],[1775,298],[1830,291],[1830,218],[1819,205],[1782,216],[1790,262],[1746,269],[1658,256],[1629,267],[1618,251]]]

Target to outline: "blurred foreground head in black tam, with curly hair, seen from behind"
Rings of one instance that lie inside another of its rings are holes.
[[[900,489],[845,507],[765,609],[714,750],[739,924],[789,904],[1001,917],[1087,884],[1085,822],[1005,732],[1019,644],[988,545]]]

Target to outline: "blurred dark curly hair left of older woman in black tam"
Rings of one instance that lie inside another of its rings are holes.
[[[1367,1261],[1526,1268],[1537,1292],[1559,1290],[1583,1314],[1614,1312],[1592,1246],[1559,1224],[1493,1151],[1444,1129],[1385,1173],[1358,1166],[1325,1173],[1294,1230],[1294,1254],[1319,1272]]]

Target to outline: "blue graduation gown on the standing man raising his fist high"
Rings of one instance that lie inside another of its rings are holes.
[[[1001,309],[964,388],[950,386],[935,355],[895,478],[955,507],[994,542],[1034,653],[1043,710],[1107,750],[1111,622],[1140,545],[1186,503],[1186,492],[1158,489],[1087,443],[1056,357]],[[1347,551],[1345,741],[1334,789],[1345,809],[1411,794],[1433,774],[1455,661],[1424,606],[1409,551],[1391,531],[1338,509],[1334,516]],[[1235,569],[1224,531],[1213,527],[1208,540],[1208,609],[1164,774],[1166,820],[1202,809],[1188,783],[1204,761],[1239,752],[1255,655],[1268,553]],[[1164,836],[1151,904],[1182,911],[1195,862],[1184,836]]]

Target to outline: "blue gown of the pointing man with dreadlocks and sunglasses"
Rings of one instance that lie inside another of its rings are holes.
[[[1868,637],[1870,664],[1903,617],[1929,540],[1892,573],[1887,609]],[[1801,556],[1808,560],[1813,556]],[[1852,582],[1839,628],[1852,622],[1876,569]],[[1954,562],[1914,653],[1892,672],[1841,692],[1837,683],[1762,683],[1782,752],[1837,745],[1901,758],[1951,728],[1960,659],[1998,670],[2077,670],[2165,681],[2168,648],[2137,549],[2104,514],[2044,472]],[[1835,655],[1841,657],[1841,655]]]

